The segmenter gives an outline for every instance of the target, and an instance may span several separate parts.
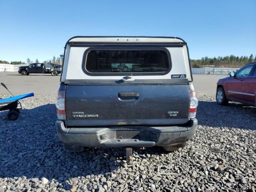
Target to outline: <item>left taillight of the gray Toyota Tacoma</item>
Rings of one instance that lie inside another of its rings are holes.
[[[66,120],[65,95],[66,95],[66,90],[58,91],[55,105],[57,108],[57,117],[59,120]]]

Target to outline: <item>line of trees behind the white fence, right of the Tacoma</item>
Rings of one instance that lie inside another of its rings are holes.
[[[202,57],[201,59],[190,59],[190,64],[192,67],[230,67],[230,68],[241,68],[245,64],[256,62],[256,56],[253,54],[250,56],[218,56],[217,58]]]

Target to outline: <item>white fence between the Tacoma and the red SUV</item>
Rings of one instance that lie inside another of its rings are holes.
[[[230,72],[236,71],[239,68],[216,68],[216,67],[204,67],[204,68],[192,68],[192,74],[218,74],[228,75]]]

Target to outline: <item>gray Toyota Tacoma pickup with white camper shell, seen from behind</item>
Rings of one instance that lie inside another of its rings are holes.
[[[188,47],[177,37],[76,36],[65,46],[56,130],[67,150],[183,147],[197,128]]]

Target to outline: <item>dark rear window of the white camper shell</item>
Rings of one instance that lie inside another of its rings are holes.
[[[89,48],[84,52],[88,75],[164,75],[171,69],[165,48]]]

